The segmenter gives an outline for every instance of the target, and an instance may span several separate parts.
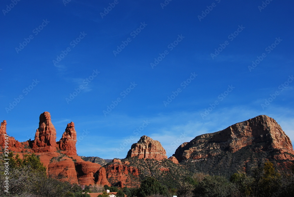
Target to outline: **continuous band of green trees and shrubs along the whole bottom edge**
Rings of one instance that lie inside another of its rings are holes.
[[[9,159],[9,171],[5,169],[5,162]],[[47,176],[46,168],[37,155],[19,155],[9,153],[0,155],[0,182],[5,185],[9,177],[9,193],[2,186],[0,196],[20,197],[89,197],[82,192],[103,192],[98,197],[108,197],[105,191],[117,192],[117,197],[290,197],[294,195],[294,167],[291,173],[278,173],[273,163],[267,161],[259,167],[250,170],[250,174],[234,173],[230,178],[224,176],[210,176],[204,173],[194,173],[193,176],[179,177],[180,183],[176,187],[166,186],[161,180],[145,177],[137,188],[90,187],[82,191],[77,184],[64,181],[64,177]]]

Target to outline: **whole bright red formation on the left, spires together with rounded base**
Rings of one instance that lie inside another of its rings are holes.
[[[0,145],[5,146],[6,121],[1,122],[0,127]],[[35,140],[20,143],[13,137],[8,137],[9,150],[14,151],[22,158],[21,151],[34,152],[40,157],[41,163],[48,169],[48,175],[62,176],[61,180],[71,183],[79,183],[81,185],[98,186],[109,185],[106,178],[105,168],[101,165],[83,161],[76,154],[76,131],[74,123],[67,125],[61,140],[56,143],[56,130],[51,122],[49,112],[44,112],[40,115],[39,128],[36,131]],[[24,148],[31,146],[32,149]],[[60,154],[56,148],[61,150],[68,156]],[[55,158],[55,159],[53,159]],[[58,158],[58,159],[57,159]],[[61,161],[57,161],[61,160]],[[73,160],[76,160],[76,164]]]

